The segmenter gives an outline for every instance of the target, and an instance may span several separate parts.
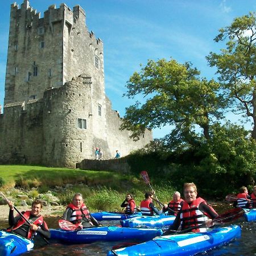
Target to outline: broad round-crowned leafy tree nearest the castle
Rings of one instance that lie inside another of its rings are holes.
[[[195,132],[196,127],[209,139],[209,126],[222,118],[225,101],[219,84],[200,79],[199,75],[190,63],[149,60],[141,72],[130,77],[125,94],[129,98],[141,94],[146,102],[126,108],[122,129],[133,131],[132,136],[137,138],[146,127],[170,125],[172,130],[166,141],[179,142],[176,145],[183,148],[199,145],[201,135]]]

